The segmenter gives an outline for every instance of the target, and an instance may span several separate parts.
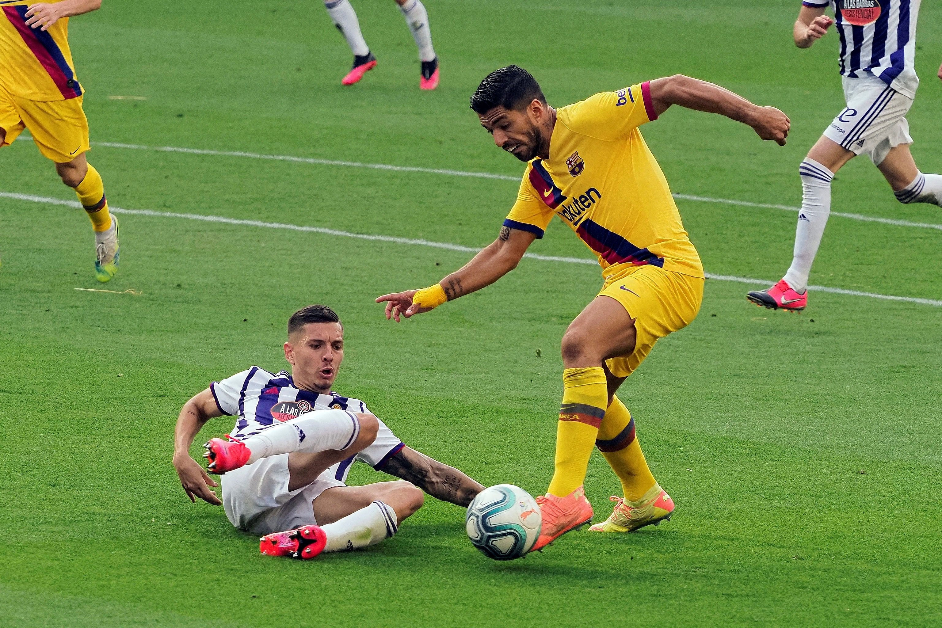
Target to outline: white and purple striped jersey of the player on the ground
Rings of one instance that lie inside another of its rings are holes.
[[[209,390],[213,392],[220,412],[238,417],[232,431],[236,438],[252,436],[315,410],[369,412],[360,399],[343,397],[333,391],[330,395],[320,395],[301,390],[295,387],[294,379],[287,371],[272,374],[258,366],[236,373],[231,378],[214,381],[209,385]],[[354,460],[381,470],[404,446],[393,431],[380,421],[380,430],[373,444],[331,467],[332,475],[341,482],[346,481]]]

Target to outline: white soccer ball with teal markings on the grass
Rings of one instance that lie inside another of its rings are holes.
[[[471,543],[495,560],[513,560],[527,554],[540,536],[542,524],[536,500],[512,484],[480,491],[464,519]]]

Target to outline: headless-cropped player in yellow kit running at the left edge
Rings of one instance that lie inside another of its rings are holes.
[[[40,153],[56,163],[91,219],[95,277],[107,282],[120,260],[118,219],[108,212],[102,176],[85,158],[89,121],[68,39],[69,17],[101,6],[101,0],[0,0],[0,147],[29,129]]]

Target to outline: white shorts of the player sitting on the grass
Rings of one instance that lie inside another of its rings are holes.
[[[317,479],[288,491],[288,454],[271,456],[220,476],[222,507],[230,523],[253,534],[317,524],[314,502],[320,493],[346,486],[328,469]]]

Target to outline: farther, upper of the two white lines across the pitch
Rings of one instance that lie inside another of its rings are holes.
[[[29,136],[20,136],[17,139],[32,139]],[[337,161],[334,159],[317,159],[315,157],[295,157],[285,154],[264,154],[264,153],[244,153],[242,151],[213,151],[209,149],[181,148],[178,146],[144,146],[142,144],[122,144],[120,142],[92,142],[92,146],[104,146],[106,148],[134,149],[138,151],[157,151],[161,153],[187,153],[187,154],[205,154],[220,157],[248,157],[250,159],[270,159],[274,161],[288,161],[299,164],[316,164],[318,166],[341,166],[348,168],[368,168],[376,170],[391,170],[394,172],[423,172],[426,174],[446,174],[454,177],[473,177],[478,179],[497,179],[500,181],[513,181],[519,183],[520,177],[512,177],[506,174],[494,174],[492,172],[473,172],[466,170],[451,170],[440,168],[419,168],[416,166],[391,166],[389,164],[368,164],[359,161]],[[801,207],[791,205],[780,205],[768,202],[736,201],[734,199],[714,199],[708,196],[693,196],[690,194],[674,194],[675,199],[684,201],[701,202],[719,202],[725,205],[739,205],[741,207],[760,207],[764,209],[782,209],[788,212],[797,212]],[[850,214],[847,212],[831,212],[831,216],[851,218],[852,220],[863,220],[865,222],[882,222],[886,225],[896,225],[898,227],[919,227],[922,229],[937,229],[942,231],[942,224],[933,224],[930,222],[912,222],[910,220],[900,220],[897,218],[883,218],[876,216],[864,216],[863,214]]]

